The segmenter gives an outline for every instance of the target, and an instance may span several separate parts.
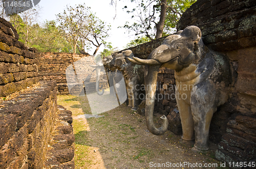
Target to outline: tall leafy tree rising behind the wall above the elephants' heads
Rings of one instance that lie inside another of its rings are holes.
[[[132,14],[135,22],[126,22],[124,27],[135,32],[136,36],[145,35],[153,39],[173,31],[182,13],[196,0],[131,0],[137,7],[127,10]],[[128,9],[127,6],[124,9]],[[129,25],[130,24],[130,25]],[[155,38],[154,38],[155,37]]]

